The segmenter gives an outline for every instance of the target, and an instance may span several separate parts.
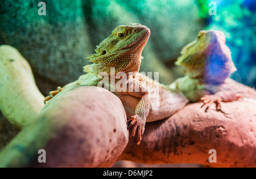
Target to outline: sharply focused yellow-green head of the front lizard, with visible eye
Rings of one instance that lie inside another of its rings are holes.
[[[110,73],[110,67],[129,73],[138,72],[141,65],[142,50],[150,36],[150,29],[141,24],[119,25],[111,35],[103,40],[88,58],[93,62],[85,66],[86,72]]]

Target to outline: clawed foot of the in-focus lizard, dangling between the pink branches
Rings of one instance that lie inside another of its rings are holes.
[[[144,122],[144,121],[146,121],[146,120],[142,120],[141,117],[139,117],[138,115],[135,115],[135,116],[132,116],[130,118],[130,120],[128,120],[127,122],[130,122],[130,121],[131,121],[131,123],[130,123],[129,127],[133,126],[133,130],[131,131],[130,138],[135,136],[136,131],[138,129],[138,143],[137,144],[139,145],[141,143],[142,135],[143,135],[144,129],[145,129],[146,122]]]

